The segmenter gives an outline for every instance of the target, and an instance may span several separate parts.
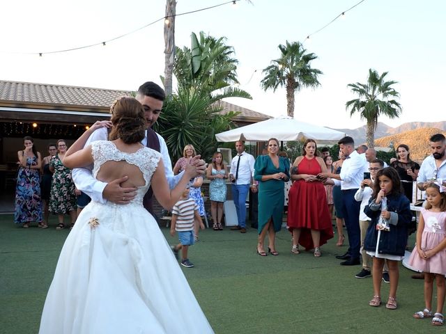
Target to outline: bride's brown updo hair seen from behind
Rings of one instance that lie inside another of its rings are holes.
[[[126,144],[139,143],[146,136],[146,118],[143,106],[133,97],[121,97],[110,107],[112,131],[109,139],[121,138]]]

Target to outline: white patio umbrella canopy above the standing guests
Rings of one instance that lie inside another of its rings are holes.
[[[346,136],[344,132],[300,122],[289,116],[270,118],[254,124],[238,127],[220,134],[215,134],[217,141],[298,141],[301,138],[312,138],[318,141],[337,141]]]

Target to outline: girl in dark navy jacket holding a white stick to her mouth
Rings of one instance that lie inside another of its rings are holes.
[[[364,249],[368,255],[373,257],[374,298],[371,299],[369,305],[375,307],[381,305],[381,279],[383,265],[387,259],[390,291],[385,307],[395,310],[399,279],[398,262],[403,259],[406,250],[408,226],[412,214],[410,213],[410,202],[404,196],[399,175],[394,168],[387,167],[378,170],[376,180],[377,182],[374,182],[373,186],[373,196],[369,205],[364,209],[364,213],[371,218],[364,241]],[[378,230],[382,220],[388,223],[388,230]]]

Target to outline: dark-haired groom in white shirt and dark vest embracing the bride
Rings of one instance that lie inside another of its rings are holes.
[[[160,116],[165,97],[164,90],[160,86],[152,81],[148,81],[139,87],[136,99],[144,107],[147,121],[146,137],[141,141],[141,144],[161,153],[167,182],[169,183],[170,188],[174,188],[182,177],[183,172],[174,175],[166,142],[160,134],[157,134],[151,129],[152,125],[155,124]],[[91,134],[85,146],[90,145],[93,141],[107,141],[107,138],[108,132],[106,127],[96,129],[95,132]],[[197,175],[204,174],[204,170],[206,169],[204,161],[199,158],[199,156],[196,156],[190,161],[190,164],[196,166]],[[128,180],[128,176],[121,177],[109,183],[101,182],[93,177],[91,168],[73,169],[72,179],[74,180],[77,189],[84,191],[84,193],[89,195],[92,200],[101,203],[110,201],[116,204],[128,204],[128,202],[130,202],[136,195],[136,188],[123,188],[121,186],[123,182]],[[147,191],[146,196],[144,196],[144,207],[148,212],[151,212],[151,214],[154,215],[152,197],[153,191],[150,188]]]

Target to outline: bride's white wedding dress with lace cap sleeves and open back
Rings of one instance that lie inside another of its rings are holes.
[[[106,161],[138,166],[145,185],[128,205],[91,202],[63,245],[40,334],[213,333],[155,219],[142,206],[160,154],[92,144]]]

